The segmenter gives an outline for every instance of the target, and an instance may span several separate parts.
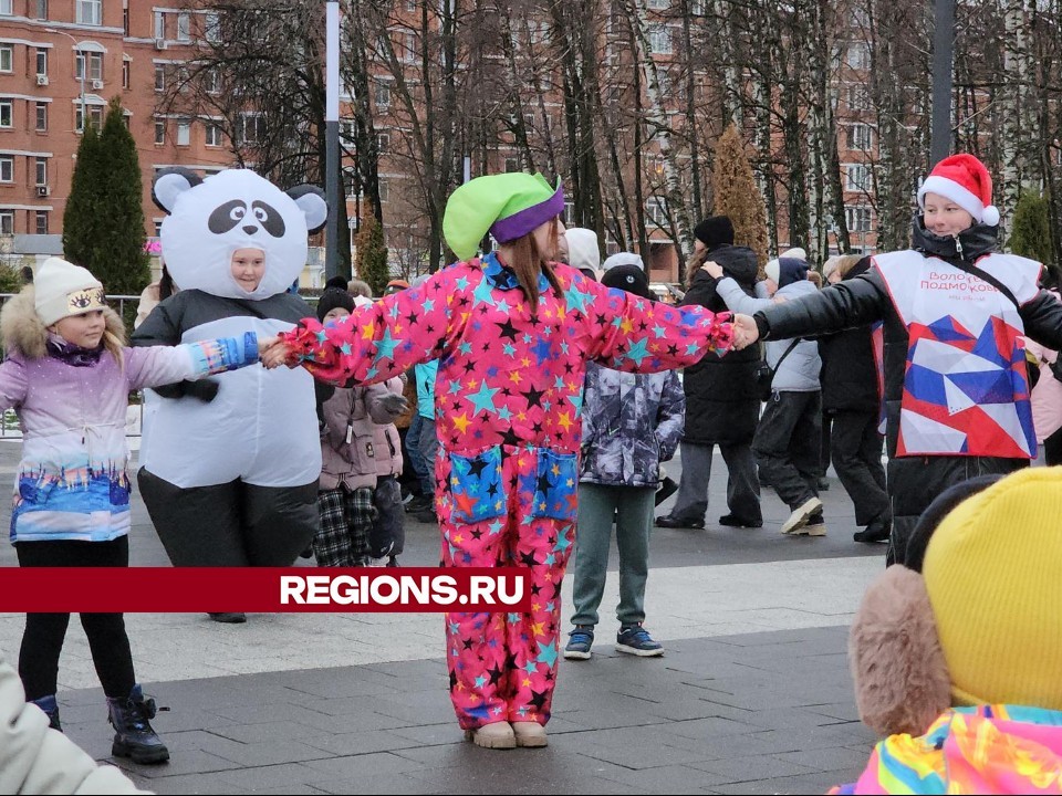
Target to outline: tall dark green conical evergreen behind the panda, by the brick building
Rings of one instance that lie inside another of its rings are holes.
[[[142,196],[136,142],[115,97],[103,132],[85,128],[63,216],[66,259],[88,269],[113,295],[136,295],[150,281]]]

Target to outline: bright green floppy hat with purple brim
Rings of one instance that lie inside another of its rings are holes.
[[[442,237],[461,260],[475,256],[488,232],[499,243],[517,240],[564,212],[564,189],[540,174],[477,177],[454,193],[442,216]]]

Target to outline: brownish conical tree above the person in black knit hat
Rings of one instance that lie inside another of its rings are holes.
[[[733,125],[727,127],[716,144],[711,185],[715,196],[712,213],[730,218],[735,245],[747,245],[754,251],[762,269],[767,264],[767,210],[745,143]]]

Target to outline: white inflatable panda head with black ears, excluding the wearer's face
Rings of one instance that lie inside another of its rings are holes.
[[[313,186],[288,192],[248,169],[220,171],[206,180],[184,168],[155,177],[155,203],[163,220],[163,258],[181,290],[230,298],[268,298],[283,293],[306,263],[308,235],[321,229],[329,210]],[[232,275],[232,254],[258,249],[266,272],[254,291]]]

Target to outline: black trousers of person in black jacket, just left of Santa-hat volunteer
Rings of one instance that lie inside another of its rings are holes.
[[[855,524],[867,525],[889,511],[882,465],[885,437],[877,431],[878,412],[839,409],[832,420],[833,467],[855,506]]]

